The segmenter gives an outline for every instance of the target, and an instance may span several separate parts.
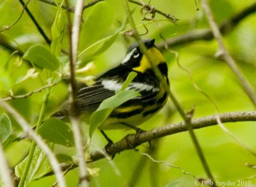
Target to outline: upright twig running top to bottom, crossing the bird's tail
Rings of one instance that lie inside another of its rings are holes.
[[[67,1],[66,1],[67,3]],[[79,44],[79,34],[81,29],[81,20],[83,15],[84,0],[77,0],[76,10],[74,13],[74,23],[70,28],[70,122],[74,133],[76,144],[77,158],[79,160],[79,186],[89,186],[88,172],[86,168],[86,160],[83,152],[83,132],[81,129],[81,121],[79,111],[76,104],[76,61],[77,49]],[[68,22],[71,25],[70,14],[68,13]],[[72,31],[71,31],[72,29]]]

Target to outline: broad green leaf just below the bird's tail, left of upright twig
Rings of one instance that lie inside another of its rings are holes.
[[[69,126],[56,117],[47,119],[40,126],[38,133],[54,144],[60,144],[66,147],[74,146],[74,137]]]

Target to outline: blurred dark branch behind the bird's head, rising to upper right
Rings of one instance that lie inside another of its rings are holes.
[[[248,15],[255,13],[255,11],[256,11],[256,3],[253,3],[247,8],[244,8],[243,10],[241,10],[239,13],[230,17],[230,19],[223,21],[219,26],[221,34],[224,35],[232,31],[234,27],[236,27],[237,24],[239,24],[239,22],[241,22],[243,19],[248,17]],[[212,40],[213,38],[214,36],[212,34],[211,29],[205,29],[204,31],[191,31],[181,36],[176,36],[176,37],[167,39],[166,41],[161,41],[157,43],[157,47],[161,50],[164,50],[165,44],[167,44],[168,47],[175,47],[175,46],[188,44],[198,40]]]

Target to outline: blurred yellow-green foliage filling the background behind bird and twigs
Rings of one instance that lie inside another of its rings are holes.
[[[74,4],[73,1],[70,0],[70,2]],[[145,2],[147,3],[147,1]],[[235,15],[240,10],[243,10],[243,8],[250,6],[250,4],[255,3],[253,0],[218,0],[210,2],[218,24]],[[90,3],[90,1],[86,1],[86,3]],[[131,8],[134,10],[133,17],[140,33],[146,32],[141,24],[147,24],[148,33],[143,35],[143,38],[156,38],[157,43],[163,41],[160,36],[173,38],[184,33],[193,33],[209,28],[200,4],[198,5],[200,10],[196,11],[195,1],[152,0],[150,4],[164,13],[174,15],[179,21],[177,22],[177,26],[175,26],[162,15],[156,15],[156,22],[141,22],[143,17],[140,13],[140,6],[131,3]],[[51,38],[51,27],[58,8],[41,1],[31,1],[28,8],[40,26],[42,26],[47,36]],[[19,1],[0,1],[0,29],[15,22],[21,12],[22,6]],[[100,52],[95,54],[91,52],[84,59],[81,58],[80,66],[88,62],[95,64],[96,68],[89,72],[90,75],[99,75],[109,70],[109,68],[116,66],[124,58],[127,46],[133,41],[131,38],[124,36],[124,32],[118,30],[120,28],[123,31],[129,29],[129,24],[126,24],[124,27],[122,26],[125,18],[126,15],[122,1],[106,0],[84,10],[79,52],[82,52],[98,41],[100,41],[100,45],[94,50],[98,50],[104,46],[102,48],[104,50],[100,49]],[[254,13],[241,20],[230,33],[225,35],[224,40],[230,54],[232,54],[239,68],[256,90],[255,33],[256,15]],[[113,39],[111,41],[106,40],[109,36],[115,36],[115,38],[111,38]],[[32,45],[40,45],[46,49],[50,49],[26,12],[15,26],[0,33],[0,38],[7,38],[6,40],[10,44],[15,42],[23,52],[27,52]],[[109,43],[104,43],[107,41]],[[36,68],[36,72],[39,73],[42,73],[42,70],[38,67],[33,67],[31,63],[24,61],[20,56],[12,54],[14,51],[10,51],[2,46],[0,42],[1,98],[8,97],[10,92],[13,95],[20,95],[42,87],[42,80],[38,76],[26,77],[31,68]],[[67,26],[63,34],[61,48],[64,51],[69,50]],[[218,50],[216,41],[198,40],[177,47],[171,47],[171,50],[179,52],[180,64],[192,73],[195,83],[205,93],[211,96],[220,112],[255,110],[255,107],[253,107],[248,96],[246,96],[240,86],[237,77],[232,73],[228,65],[214,57],[214,54]],[[168,62],[171,89],[184,110],[189,110],[195,106],[193,117],[216,114],[214,105],[195,89],[189,79],[188,73],[178,66],[175,56],[168,51],[164,51],[163,53]],[[57,56],[57,58],[63,63],[63,66],[61,65],[59,68],[60,72],[63,73],[65,72],[65,64],[68,61],[67,56],[62,54],[61,57]],[[58,67],[54,67],[54,69],[56,68]],[[20,82],[22,79],[24,80]],[[67,98],[67,94],[67,84],[64,81],[52,89],[45,119],[58,110],[58,107]],[[43,96],[44,91],[33,94],[28,98],[12,100],[10,103],[29,121],[31,126],[35,126]],[[0,108],[1,115],[3,112]],[[19,134],[19,124],[12,117],[10,119],[12,121],[13,133]],[[157,126],[164,126],[179,121],[182,121],[181,117],[173,107],[172,102],[168,102],[168,105],[157,116],[144,123],[141,128],[143,130],[150,130]],[[225,125],[246,146],[256,151],[254,138],[256,131],[255,123],[243,122]],[[84,125],[83,130],[86,137],[88,137],[88,126]],[[216,180],[237,181],[255,175],[255,168],[246,166],[246,163],[255,165],[255,156],[252,156],[243,147],[239,146],[219,126],[202,128],[195,130],[195,132]],[[127,135],[127,133],[134,133],[134,131],[111,130],[106,133],[116,142]],[[90,151],[95,151],[95,147],[97,147],[96,149],[102,149],[106,143],[106,140],[100,135],[99,131],[96,131],[95,135],[93,135],[93,147],[90,148]],[[206,177],[188,132],[154,140],[152,141],[152,146],[148,149],[148,145],[143,144],[138,149],[140,153],[150,153],[152,158],[176,165],[196,177]],[[154,151],[150,152],[150,149],[153,148]],[[28,149],[28,140],[7,144],[4,150],[6,151],[6,158],[10,167],[14,168],[26,156]],[[62,155],[65,158],[65,156],[73,156],[75,152],[73,148],[56,145],[54,147],[54,153]],[[70,160],[70,157],[67,158]],[[141,160],[143,162],[140,162]],[[163,163],[154,163],[146,156],[135,151],[124,151],[116,155],[113,161],[103,159],[91,163],[88,166],[90,168],[100,168],[99,176],[92,177],[92,186],[126,186],[127,184],[133,184],[134,186],[154,186],[154,184],[157,184],[157,186],[196,186],[195,179],[191,175],[183,174],[179,168],[168,167]],[[136,172],[135,175],[134,172]],[[66,179],[68,186],[76,186],[77,169],[68,172]],[[51,186],[54,181],[54,176],[44,177],[33,181],[29,186]],[[250,181],[253,184],[256,183],[255,178],[250,179]]]

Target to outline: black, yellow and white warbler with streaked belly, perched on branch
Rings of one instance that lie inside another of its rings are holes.
[[[152,56],[152,63],[159,68],[164,80],[169,85],[168,67],[163,54],[154,45],[155,40],[143,39],[148,53]],[[122,128],[120,124],[135,127],[154,116],[166,103],[167,93],[157,79],[147,57],[141,53],[137,42],[127,49],[126,56],[120,65],[100,75],[92,86],[84,86],[77,91],[77,110],[84,114],[92,114],[100,103],[115,95],[129,73],[134,71],[137,76],[132,80],[127,89],[138,91],[141,96],[125,101],[116,107],[109,115],[106,122],[99,129]],[[52,117],[64,118],[68,116],[68,104],[56,112]],[[88,118],[88,115],[86,115]]]

